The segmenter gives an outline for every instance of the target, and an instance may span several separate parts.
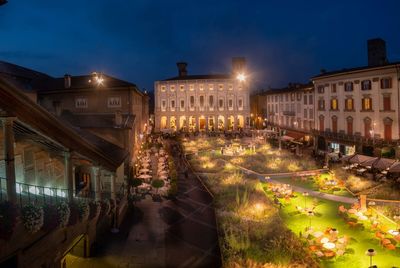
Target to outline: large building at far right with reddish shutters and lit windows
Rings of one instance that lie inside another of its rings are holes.
[[[319,149],[373,154],[399,139],[400,64],[323,73],[315,86]]]

